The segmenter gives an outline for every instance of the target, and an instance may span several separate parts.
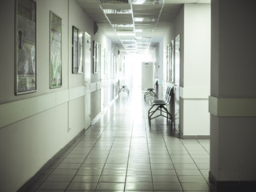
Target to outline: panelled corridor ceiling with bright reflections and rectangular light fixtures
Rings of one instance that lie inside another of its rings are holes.
[[[77,0],[118,50],[145,54],[161,42],[184,3],[210,0]]]

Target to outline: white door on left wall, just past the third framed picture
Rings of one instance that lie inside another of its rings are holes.
[[[90,126],[90,34],[85,33],[85,128]]]

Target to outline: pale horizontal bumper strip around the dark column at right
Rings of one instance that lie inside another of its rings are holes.
[[[209,112],[217,117],[256,117],[256,98],[210,96]]]

